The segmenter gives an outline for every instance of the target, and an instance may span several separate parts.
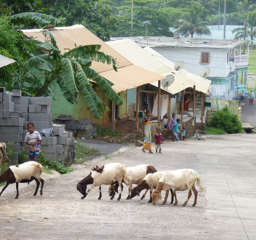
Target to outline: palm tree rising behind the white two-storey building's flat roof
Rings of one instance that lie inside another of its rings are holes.
[[[207,27],[208,22],[200,19],[198,10],[189,10],[189,14],[186,15],[185,19],[179,19],[177,22],[176,28],[178,29],[175,33],[181,33],[185,37],[191,35],[191,38],[193,38],[194,33],[197,35],[212,35]]]

